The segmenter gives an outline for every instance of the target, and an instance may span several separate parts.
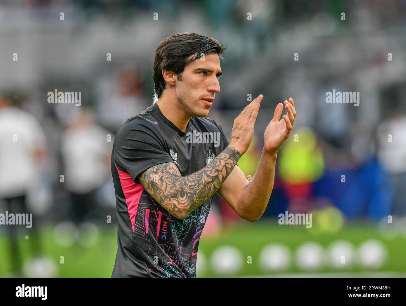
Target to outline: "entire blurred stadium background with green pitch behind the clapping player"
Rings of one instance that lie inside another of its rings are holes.
[[[197,276],[405,277],[404,0],[3,0],[0,213],[34,219],[0,225],[0,277],[111,276],[114,133],[153,103],[155,49],[177,32],[227,45],[209,113],[227,135],[264,95],[247,177],[276,104],[293,97],[298,112],[260,220],[214,196]],[[48,103],[55,89],[82,105]],[[359,92],[359,106],[326,103],[333,89]],[[279,225],[285,211],[312,213],[312,227]]]

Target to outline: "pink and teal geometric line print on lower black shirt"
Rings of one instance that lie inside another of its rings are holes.
[[[206,202],[211,204],[211,198]],[[210,210],[210,204],[206,202],[180,220],[157,204],[149,194],[143,193],[136,215],[133,244],[140,258],[144,261],[149,258],[149,263],[145,265],[151,274],[157,273],[165,278],[196,277],[197,249]],[[191,231],[191,226],[195,231]],[[145,243],[136,244],[135,241],[140,239]],[[148,246],[148,249],[142,246]]]

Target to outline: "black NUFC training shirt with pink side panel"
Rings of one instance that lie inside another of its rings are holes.
[[[209,138],[208,133],[216,136]],[[138,176],[167,162],[175,163],[182,176],[189,175],[204,168],[228,144],[212,119],[191,117],[183,132],[156,103],[124,123],[111,156],[118,219],[112,277],[196,277],[197,248],[212,197],[180,220],[148,194]]]

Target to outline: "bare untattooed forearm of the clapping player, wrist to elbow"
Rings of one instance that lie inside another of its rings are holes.
[[[276,156],[262,151],[257,171],[240,195],[238,208],[247,220],[256,221],[266,209],[274,186]]]

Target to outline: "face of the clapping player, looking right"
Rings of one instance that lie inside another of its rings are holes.
[[[205,117],[209,114],[215,103],[214,95],[220,92],[220,75],[220,58],[217,53],[206,54],[204,60],[198,58],[185,67],[182,80],[176,81],[176,95],[190,116]]]

